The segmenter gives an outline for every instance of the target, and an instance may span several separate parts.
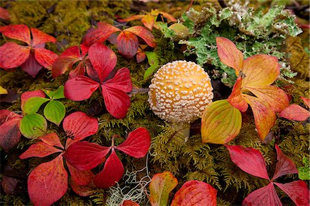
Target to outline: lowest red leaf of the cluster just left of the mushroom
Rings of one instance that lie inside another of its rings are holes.
[[[125,92],[109,85],[102,84],[101,89],[107,111],[115,118],[125,117],[130,108],[130,97]]]

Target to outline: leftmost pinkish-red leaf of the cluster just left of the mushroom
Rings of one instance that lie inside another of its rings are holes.
[[[77,76],[65,82],[65,98],[73,101],[87,100],[98,89],[99,85],[91,78]]]

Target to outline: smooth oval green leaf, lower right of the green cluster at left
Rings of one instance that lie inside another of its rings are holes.
[[[50,102],[46,104],[43,113],[48,121],[59,126],[63,117],[65,117],[65,106],[59,101],[50,100]]]

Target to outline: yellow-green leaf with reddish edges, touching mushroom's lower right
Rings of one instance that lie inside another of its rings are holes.
[[[241,113],[227,100],[212,102],[201,117],[201,137],[204,143],[226,144],[240,132]]]

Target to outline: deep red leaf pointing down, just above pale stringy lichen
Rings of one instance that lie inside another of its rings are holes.
[[[112,148],[111,155],[107,158],[105,166],[99,174],[94,177],[94,184],[96,187],[105,189],[120,181],[124,173],[124,167],[121,160],[118,159],[114,148]]]

